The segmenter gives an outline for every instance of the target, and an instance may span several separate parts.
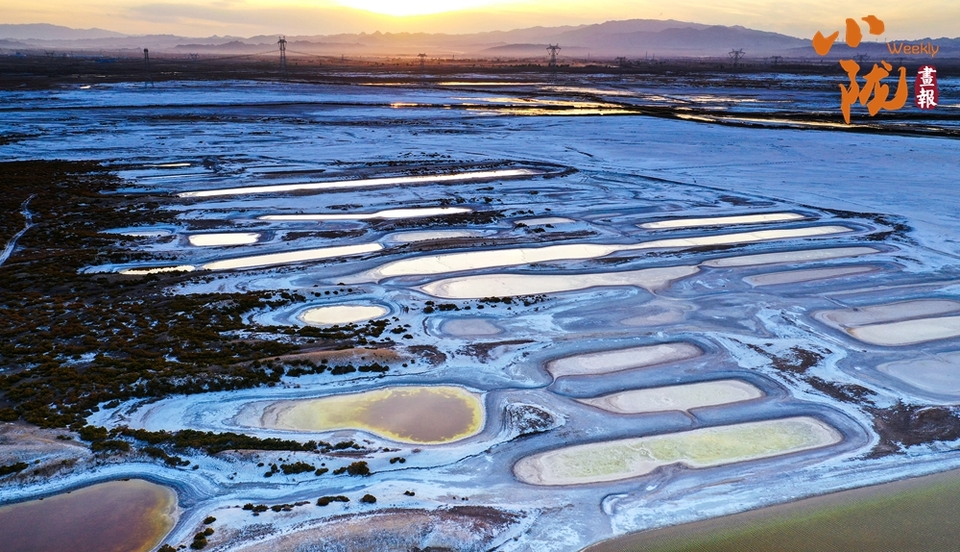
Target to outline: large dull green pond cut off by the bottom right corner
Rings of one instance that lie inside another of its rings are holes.
[[[960,470],[634,533],[584,552],[960,549]]]

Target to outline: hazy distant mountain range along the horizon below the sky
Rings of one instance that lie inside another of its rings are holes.
[[[0,49],[113,50],[150,48],[177,54],[252,54],[277,48],[277,36],[186,38],[174,35],[131,36],[102,29],[70,29],[55,25],[0,25]],[[924,39],[924,42],[931,39]],[[911,40],[911,43],[921,41]],[[934,39],[940,57],[960,53],[960,39]],[[559,44],[561,58],[587,57],[726,57],[743,49],[746,58],[780,55],[814,58],[810,39],[757,31],[741,26],[704,25],[675,20],[631,19],[595,25],[532,27],[474,34],[359,33],[288,36],[291,56],[407,55],[535,58],[546,56],[548,44]],[[864,43],[858,52],[882,55],[882,43]],[[834,55],[851,55],[845,45]]]

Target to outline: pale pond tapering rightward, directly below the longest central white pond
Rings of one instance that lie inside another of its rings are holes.
[[[444,299],[539,295],[609,286],[657,290],[699,270],[695,266],[671,266],[595,274],[481,274],[438,280],[420,289]]]

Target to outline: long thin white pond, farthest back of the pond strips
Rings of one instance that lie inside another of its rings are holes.
[[[273,186],[245,186],[242,188],[221,188],[218,190],[199,190],[182,192],[179,197],[218,197],[248,194],[278,194],[299,191],[323,191],[351,188],[372,188],[376,186],[396,186],[399,184],[423,184],[427,182],[464,182],[487,178],[517,178],[538,176],[544,171],[533,169],[505,169],[499,171],[475,171],[456,174],[436,174],[426,176],[397,176],[391,178],[365,178],[361,180],[337,180],[331,182],[308,182],[303,184],[277,184]]]

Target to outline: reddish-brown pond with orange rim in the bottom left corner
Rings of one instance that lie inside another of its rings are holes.
[[[0,549],[140,552],[173,528],[177,495],[141,479],[110,481],[0,507]]]

